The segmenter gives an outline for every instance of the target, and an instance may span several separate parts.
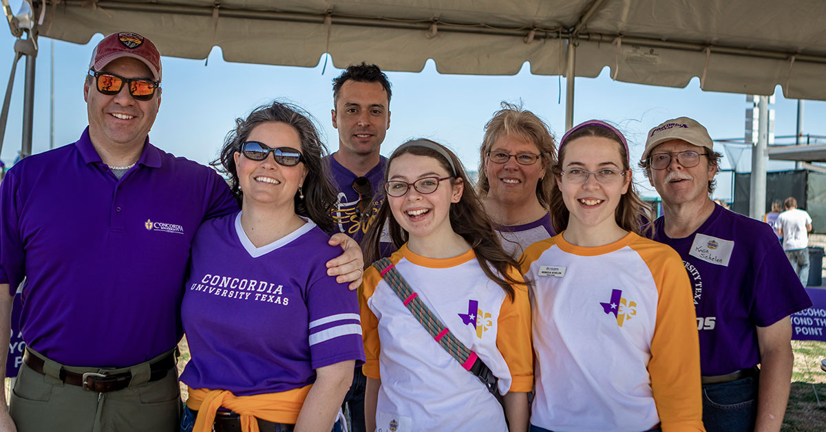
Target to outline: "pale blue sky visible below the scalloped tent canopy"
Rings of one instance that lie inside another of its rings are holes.
[[[16,5],[12,10],[17,10]],[[124,29],[128,30],[128,29]],[[83,102],[83,79],[93,47],[102,35],[88,45],[55,41],[55,146],[77,140],[87,125]],[[50,50],[51,40],[40,38],[36,67],[36,103],[33,152],[49,149],[50,143]],[[11,71],[14,38],[0,30],[0,83]],[[5,54],[2,54],[2,53]],[[221,48],[212,50],[209,59],[192,60],[164,57],[163,98],[150,140],[164,150],[207,163],[216,157],[222,140],[235,117],[273,98],[286,99],[305,107],[316,116],[326,136],[330,152],[338,148],[338,138],[330,123],[331,80],[335,69],[328,57],[320,56],[315,68],[295,68],[260,64],[227,63]],[[381,66],[381,64],[379,64]],[[0,158],[9,163],[21,142],[25,59],[17,66],[12,105]],[[323,71],[323,74],[322,74]],[[513,76],[472,76],[439,74],[432,60],[419,73],[388,73],[392,82],[391,127],[382,145],[389,154],[412,137],[428,137],[455,150],[468,169],[477,169],[478,148],[483,126],[501,101],[522,101],[551,126],[558,137],[565,122],[565,78],[533,75],[529,64]],[[562,97],[560,97],[560,92]],[[662,88],[619,83],[603,69],[597,78],[577,78],[574,123],[591,118],[612,121],[629,139],[633,156],[642,152],[648,130],[677,116],[690,116],[710,131],[712,138],[742,138],[745,95],[703,92],[699,79],[686,88]],[[794,135],[796,101],[782,97],[776,90],[776,135]],[[805,103],[805,133],[826,135],[822,119],[826,103]],[[719,151],[722,152],[722,148]],[[739,153],[736,151],[735,153]],[[724,158],[723,168],[732,161]],[[748,171],[751,155],[744,151],[738,170]],[[790,163],[770,162],[770,170],[793,169]],[[643,178],[639,183],[647,186]],[[719,179],[717,197],[730,196],[728,178]],[[644,195],[655,192],[643,191]]]

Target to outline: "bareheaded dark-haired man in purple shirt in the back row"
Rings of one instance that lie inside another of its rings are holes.
[[[333,209],[336,228],[359,243],[375,221],[384,201],[384,169],[387,158],[379,151],[390,127],[390,81],[375,64],[350,64],[333,79],[333,127],[339,131],[339,150],[330,154],[330,171],[339,189]],[[382,254],[390,250],[382,242]],[[364,385],[358,366],[353,385],[344,397],[354,432],[364,431]]]

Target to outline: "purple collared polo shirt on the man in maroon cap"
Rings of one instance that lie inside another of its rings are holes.
[[[70,366],[121,368],[172,349],[192,238],[237,210],[224,180],[150,145],[118,180],[88,128],[0,184],[0,283],[22,290],[26,344]]]

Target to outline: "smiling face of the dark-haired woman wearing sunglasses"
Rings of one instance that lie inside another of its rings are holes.
[[[301,151],[301,138],[298,132],[292,126],[281,122],[261,123],[255,126],[247,140],[259,141],[271,148],[291,147]],[[260,161],[249,159],[237,151],[234,156],[238,183],[244,192],[244,209],[249,206],[266,206],[269,209],[288,206],[295,211],[293,197],[296,196],[298,187],[304,183],[307,174],[304,163],[285,167],[275,161],[272,153]]]

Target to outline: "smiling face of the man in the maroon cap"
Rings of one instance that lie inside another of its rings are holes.
[[[114,59],[101,72],[152,79],[146,64],[131,57]],[[83,85],[93,145],[112,150],[134,150],[144,145],[160,107],[160,88],[149,101],[139,101],[129,94],[127,87],[123,85],[119,93],[110,96],[97,91],[94,78]]]

